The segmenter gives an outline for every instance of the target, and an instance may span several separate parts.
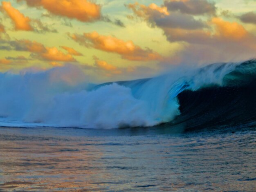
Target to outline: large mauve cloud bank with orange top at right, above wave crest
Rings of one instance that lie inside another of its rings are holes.
[[[214,31],[165,31],[169,41],[187,42],[169,63],[205,64],[256,57],[256,37],[237,22],[212,18]]]

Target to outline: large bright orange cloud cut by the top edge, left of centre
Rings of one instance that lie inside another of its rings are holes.
[[[22,0],[17,0],[22,1]],[[25,0],[31,7],[43,7],[57,16],[65,16],[82,22],[101,18],[101,7],[88,0]]]

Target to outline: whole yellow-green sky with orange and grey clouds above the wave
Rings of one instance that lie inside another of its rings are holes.
[[[0,71],[92,81],[256,58],[256,0],[0,0]]]

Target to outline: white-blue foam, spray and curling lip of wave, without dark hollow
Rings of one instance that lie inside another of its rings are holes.
[[[180,93],[237,83],[242,77],[237,74],[255,65],[255,60],[217,63],[100,85],[89,83],[74,65],[0,73],[0,126],[113,129],[168,123],[181,114]]]

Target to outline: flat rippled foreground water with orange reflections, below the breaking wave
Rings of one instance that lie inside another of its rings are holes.
[[[255,129],[136,130],[0,128],[0,191],[256,188]]]

